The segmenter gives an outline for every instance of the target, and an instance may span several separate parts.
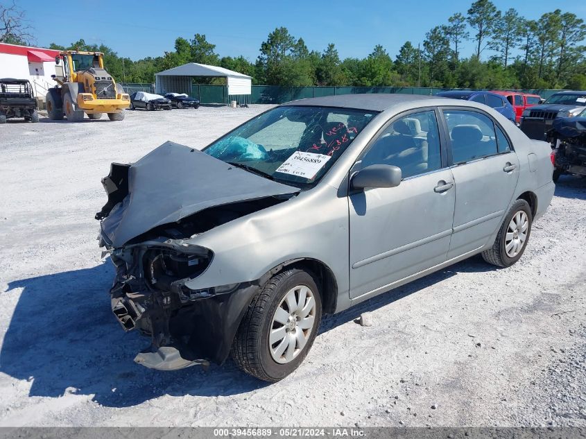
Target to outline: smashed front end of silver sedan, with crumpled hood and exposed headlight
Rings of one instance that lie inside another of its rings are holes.
[[[112,311],[125,331],[151,339],[135,361],[159,370],[222,363],[259,284],[190,288],[214,260],[193,239],[298,189],[171,142],[135,164],[112,164],[102,183],[108,200],[96,219],[116,267]]]

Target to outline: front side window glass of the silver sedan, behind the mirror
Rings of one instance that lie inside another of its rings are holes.
[[[436,112],[408,114],[388,126],[362,159],[371,164],[398,166],[403,178],[442,167]]]

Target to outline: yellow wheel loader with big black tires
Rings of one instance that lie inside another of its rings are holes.
[[[55,57],[53,79],[58,85],[46,94],[49,119],[70,122],[100,119],[106,113],[111,121],[124,119],[130,96],[104,69],[103,53],[63,51]]]

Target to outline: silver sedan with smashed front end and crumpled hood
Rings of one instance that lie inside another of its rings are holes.
[[[522,257],[553,196],[551,148],[490,107],[354,94],[275,107],[198,151],[112,164],[112,310],[171,370],[230,353],[286,377],[336,313],[481,253]]]

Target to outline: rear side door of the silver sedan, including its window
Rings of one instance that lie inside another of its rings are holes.
[[[456,184],[454,234],[447,256],[452,259],[485,246],[501,225],[517,186],[519,160],[506,131],[485,112],[462,107],[442,112]]]

